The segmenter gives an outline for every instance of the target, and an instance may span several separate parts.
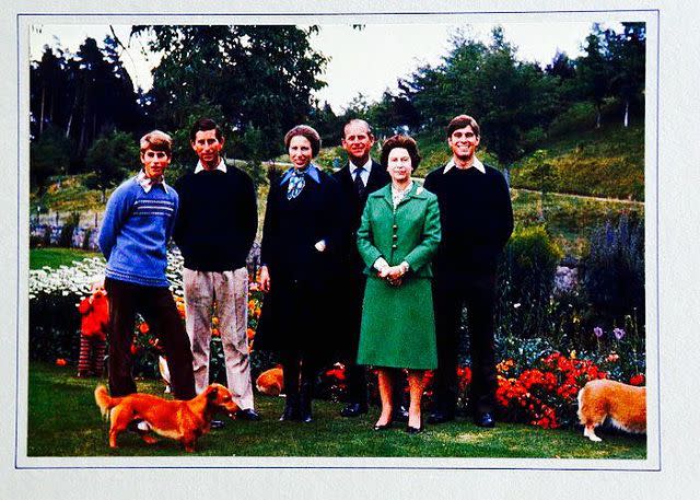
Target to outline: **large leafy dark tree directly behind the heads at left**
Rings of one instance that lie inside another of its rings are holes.
[[[178,130],[202,102],[221,111],[222,125],[236,136],[249,128],[268,140],[261,153],[281,151],[283,133],[305,121],[326,58],[308,42],[316,27],[285,25],[135,26],[152,33],[161,53],[149,92],[158,127]]]

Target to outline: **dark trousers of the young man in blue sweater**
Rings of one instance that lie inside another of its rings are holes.
[[[140,313],[160,340],[167,358],[171,385],[177,399],[191,399],[195,394],[192,352],[185,325],[167,288],[144,287],[105,279],[109,298],[109,392],[126,396],[137,392],[131,374],[131,341],[136,315]]]

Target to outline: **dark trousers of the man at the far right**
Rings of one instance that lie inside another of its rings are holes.
[[[495,275],[472,276],[433,283],[438,370],[433,379],[433,409],[454,415],[457,404],[459,319],[467,307],[471,354],[469,409],[472,414],[494,409],[497,373],[493,345]]]

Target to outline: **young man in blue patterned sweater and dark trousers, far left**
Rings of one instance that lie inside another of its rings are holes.
[[[172,140],[154,130],[141,138],[140,146],[143,170],[112,194],[100,231],[100,249],[107,259],[109,392],[113,396],[137,392],[131,341],[140,313],[165,349],[175,397],[191,399],[195,379],[189,338],[165,277],[166,245],[178,208],[177,193],[163,179]]]

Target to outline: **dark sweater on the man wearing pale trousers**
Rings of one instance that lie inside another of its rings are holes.
[[[175,183],[179,210],[173,237],[185,267],[224,271],[245,266],[258,228],[253,181],[228,165],[226,173],[187,173]]]

